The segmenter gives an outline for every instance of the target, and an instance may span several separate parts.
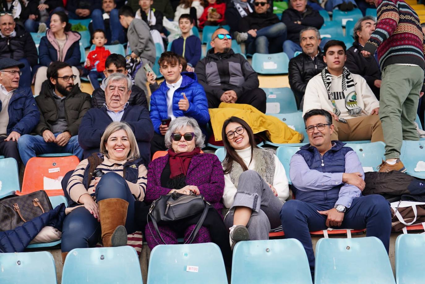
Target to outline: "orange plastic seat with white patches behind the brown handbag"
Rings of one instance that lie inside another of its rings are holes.
[[[25,167],[22,190],[17,195],[45,190],[48,196],[63,195],[62,178],[79,164],[77,156],[33,157]]]

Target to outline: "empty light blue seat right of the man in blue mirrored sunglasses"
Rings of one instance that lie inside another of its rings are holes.
[[[273,54],[254,53],[252,68],[259,74],[287,74],[289,58],[284,52]]]

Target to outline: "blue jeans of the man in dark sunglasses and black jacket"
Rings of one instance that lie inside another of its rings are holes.
[[[257,31],[257,37],[252,37],[248,34],[248,40],[246,40],[248,53],[276,53],[269,52],[269,46],[270,49],[276,46],[280,48],[284,40],[286,40],[286,26],[284,23],[275,23],[272,26],[261,28]],[[277,52],[280,51],[278,50]]]

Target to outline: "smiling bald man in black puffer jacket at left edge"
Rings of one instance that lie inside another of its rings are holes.
[[[37,65],[34,40],[22,26],[16,25],[11,13],[0,13],[0,60],[11,58],[23,63],[20,86],[31,87],[31,67]]]

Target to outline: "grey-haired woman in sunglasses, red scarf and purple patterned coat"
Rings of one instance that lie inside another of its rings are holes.
[[[196,120],[191,117],[181,116],[170,122],[165,133],[165,144],[169,148],[167,155],[156,158],[149,164],[144,201],[153,202],[172,192],[204,196],[212,206],[193,243],[216,243],[225,263],[230,265],[231,252],[227,241],[229,233],[219,213],[223,208],[221,197],[224,189],[220,161],[214,154],[201,153],[204,136]],[[200,215],[159,225],[162,239],[167,244],[177,244],[177,238],[180,237],[184,237],[186,241]],[[152,222],[148,222],[145,227],[145,238],[151,250],[157,244],[164,244]]]

